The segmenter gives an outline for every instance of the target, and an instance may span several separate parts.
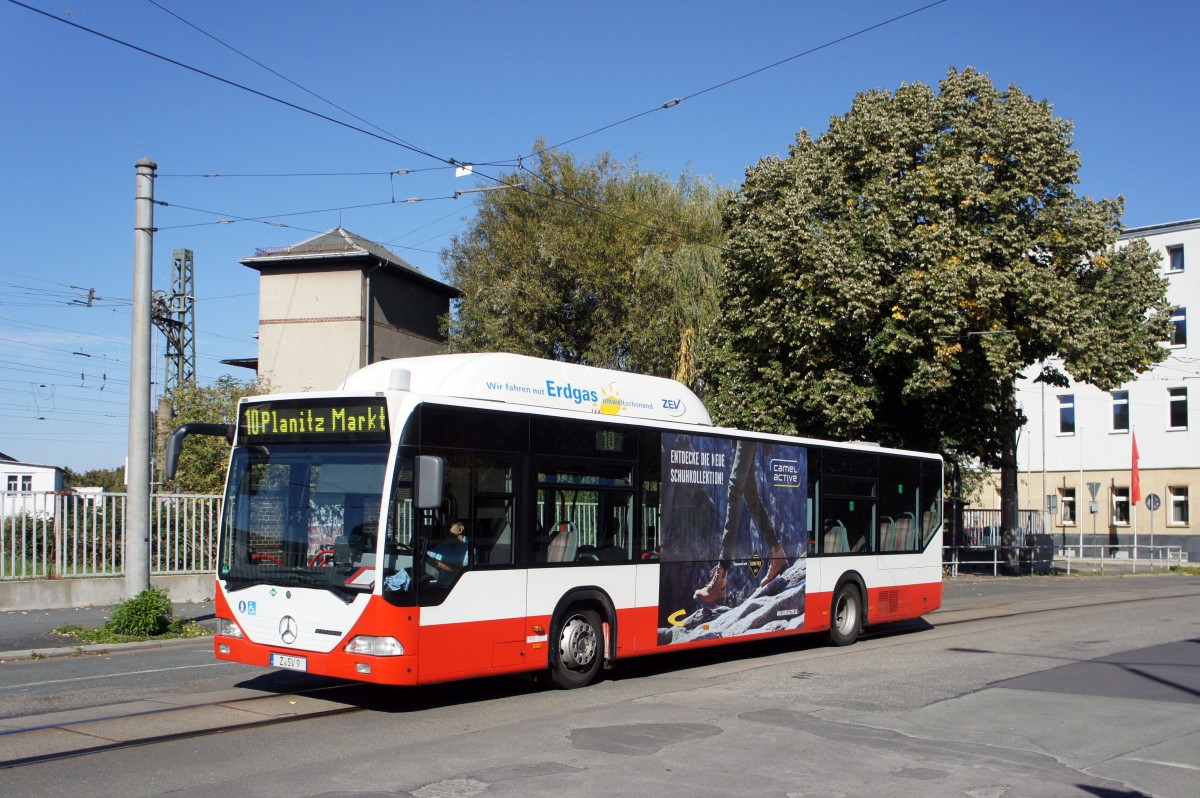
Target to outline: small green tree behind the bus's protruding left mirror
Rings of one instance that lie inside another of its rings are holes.
[[[191,422],[233,424],[238,400],[269,390],[263,379],[239,380],[224,376],[211,385],[186,383],[172,391],[166,401],[174,414],[169,419],[160,419],[158,424],[158,462],[163,462],[162,449],[176,427]],[[191,436],[180,454],[175,479],[167,487],[192,493],[221,493],[228,463],[229,444],[223,438]]]

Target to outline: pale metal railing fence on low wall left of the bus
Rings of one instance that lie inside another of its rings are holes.
[[[120,576],[126,494],[0,492],[0,580]],[[216,568],[220,496],[150,497],[150,572]]]

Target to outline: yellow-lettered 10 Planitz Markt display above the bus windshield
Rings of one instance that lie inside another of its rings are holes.
[[[313,398],[241,406],[242,443],[388,442],[383,398]]]

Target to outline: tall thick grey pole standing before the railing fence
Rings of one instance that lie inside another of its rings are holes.
[[[158,164],[136,164],[133,330],[130,335],[130,450],[126,468],[125,595],[150,587],[150,294],[154,281],[154,178]]]

